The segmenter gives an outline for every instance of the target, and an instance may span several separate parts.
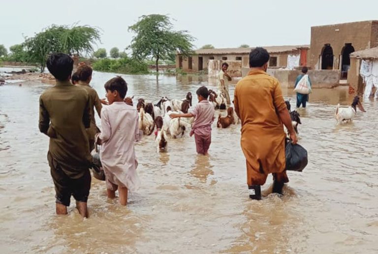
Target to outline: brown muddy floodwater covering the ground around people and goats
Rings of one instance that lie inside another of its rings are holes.
[[[123,76],[128,95],[155,102],[216,86],[202,76]],[[100,97],[111,77],[94,73]],[[210,157],[196,155],[188,133],[160,154],[154,136],[144,136],[136,145],[139,191],[121,207],[93,179],[83,220],[73,199],[68,216],[55,215],[48,138],[38,130],[38,98],[48,87],[0,87],[1,253],[378,253],[377,101],[363,101],[366,113],[336,126],[337,103],[352,101],[347,88],[314,90],[299,109],[309,164],[288,173],[282,198],[270,194],[270,177],[263,199],[249,199],[240,125],[213,125]],[[294,107],[291,89],[283,92]]]

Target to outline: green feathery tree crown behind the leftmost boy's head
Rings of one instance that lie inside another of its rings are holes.
[[[99,40],[99,31],[89,26],[52,25],[31,38],[26,38],[23,45],[27,51],[27,61],[38,63],[41,72],[46,66],[47,57],[54,52],[66,54],[89,53],[92,44]]]

